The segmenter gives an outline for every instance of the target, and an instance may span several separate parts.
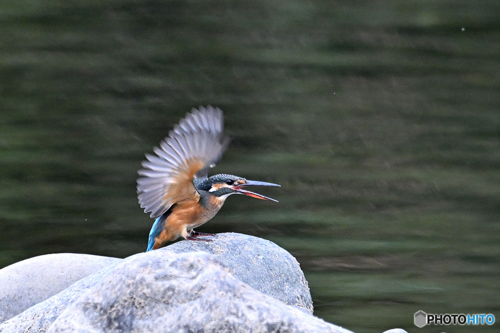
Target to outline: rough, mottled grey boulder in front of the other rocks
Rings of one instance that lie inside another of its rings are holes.
[[[350,332],[251,288],[213,255],[168,249],[123,259],[47,333],[123,331]]]

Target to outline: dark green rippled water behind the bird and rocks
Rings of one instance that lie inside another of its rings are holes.
[[[282,187],[199,231],[284,247],[356,332],[498,331],[500,2],[6,0],[0,32],[0,267],[145,250],[143,154],[211,104],[214,171]]]

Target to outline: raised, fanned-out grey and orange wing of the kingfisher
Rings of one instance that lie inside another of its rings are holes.
[[[224,152],[229,138],[222,134],[223,114],[216,107],[199,107],[180,119],[154,147],[156,155],[146,154],[143,169],[137,171],[137,193],[144,212],[158,217],[172,204],[196,199],[193,179],[206,177]]]

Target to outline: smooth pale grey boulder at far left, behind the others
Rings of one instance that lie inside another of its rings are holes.
[[[0,269],[0,322],[119,260],[59,253],[36,256]]]

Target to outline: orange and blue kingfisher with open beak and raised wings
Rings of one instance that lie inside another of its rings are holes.
[[[223,133],[223,113],[218,107],[198,107],[186,113],[168,136],[145,154],[137,173],[137,197],[144,212],[155,218],[146,252],[179,237],[211,241],[200,236],[213,233],[193,229],[210,220],[232,194],[277,200],[243,189],[246,186],[280,186],[247,180],[231,174],[208,176],[229,144]]]

